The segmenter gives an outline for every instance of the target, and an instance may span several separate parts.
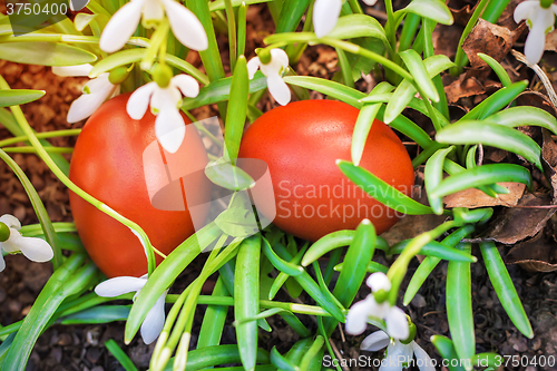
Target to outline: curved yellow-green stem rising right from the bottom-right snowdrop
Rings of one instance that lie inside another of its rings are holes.
[[[399,257],[394,261],[394,263],[391,265],[389,269],[389,272],[387,272],[387,276],[389,280],[391,280],[391,291],[389,292],[389,302],[391,305],[397,304],[397,296],[399,292],[399,287],[402,283],[402,280],[404,279],[404,275],[407,274],[408,271],[408,265],[410,264],[410,261],[418,254],[420,253],[420,250],[426,246],[429,242],[436,240],[440,235],[442,235],[444,232],[449,231],[450,228],[457,226],[455,222],[446,222],[438,227],[424,232],[417,237],[412,238],[410,243],[404,247],[402,253],[399,255]]]

